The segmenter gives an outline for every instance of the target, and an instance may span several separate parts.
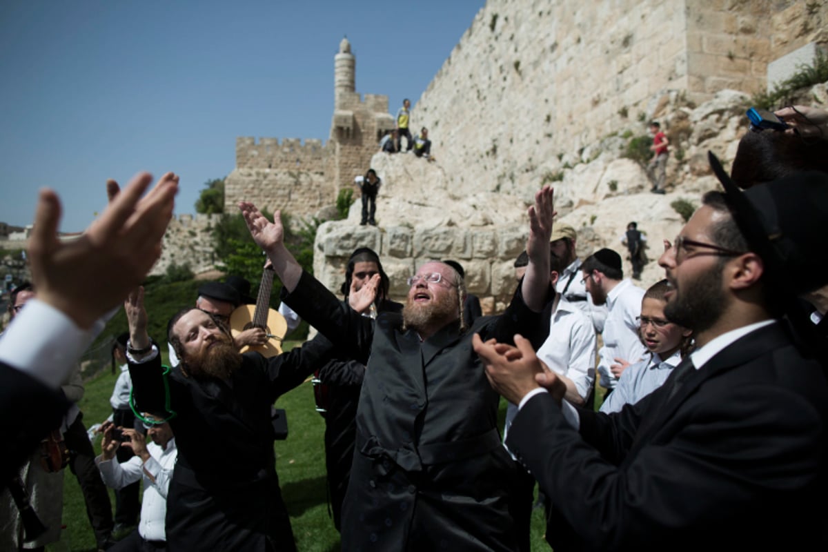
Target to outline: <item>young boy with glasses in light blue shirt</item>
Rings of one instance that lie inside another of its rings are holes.
[[[667,280],[662,280],[644,293],[641,316],[638,317],[639,334],[650,358],[624,370],[615,391],[601,405],[601,412],[619,412],[624,405],[634,404],[655,391],[689,352],[691,330],[673,324],[664,316],[664,306],[667,305],[664,294],[669,289]]]

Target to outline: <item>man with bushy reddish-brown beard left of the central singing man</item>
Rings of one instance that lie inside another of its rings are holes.
[[[178,444],[167,495],[169,550],[296,550],[276,473],[271,406],[330,358],[330,343],[317,337],[272,358],[242,354],[213,314],[189,308],[167,326],[181,359],[170,370],[147,334],[143,289],[124,306],[136,406],[167,412]]]

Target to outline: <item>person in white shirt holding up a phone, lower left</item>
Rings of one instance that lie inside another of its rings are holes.
[[[163,416],[145,412],[142,419],[151,443],[147,443],[140,431],[132,428],[116,428],[110,421],[101,426],[102,452],[95,458],[95,463],[103,482],[113,489],[121,489],[141,480],[144,482],[141,522],[136,530],[110,549],[113,552],[166,550],[166,493],[170,488],[173,468],[176,467],[178,449],[170,424]],[[134,454],[126,462],[118,462],[115,458],[115,453],[122,447]]]

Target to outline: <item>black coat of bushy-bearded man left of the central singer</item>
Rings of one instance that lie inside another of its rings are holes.
[[[319,337],[269,359],[244,353],[229,383],[185,377],[176,367],[166,378],[169,397],[159,357],[130,363],[137,407],[176,413],[168,550],[296,550],[276,473],[271,406],[331,351]]]

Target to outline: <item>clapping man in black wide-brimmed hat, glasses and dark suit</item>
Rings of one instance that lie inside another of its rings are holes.
[[[826,550],[828,383],[781,318],[828,281],[828,177],[743,194],[710,164],[725,193],[705,194],[659,260],[664,314],[697,347],[663,386],[609,415],[575,409],[526,340],[475,338],[519,406],[506,443],[555,502],[556,552]]]

